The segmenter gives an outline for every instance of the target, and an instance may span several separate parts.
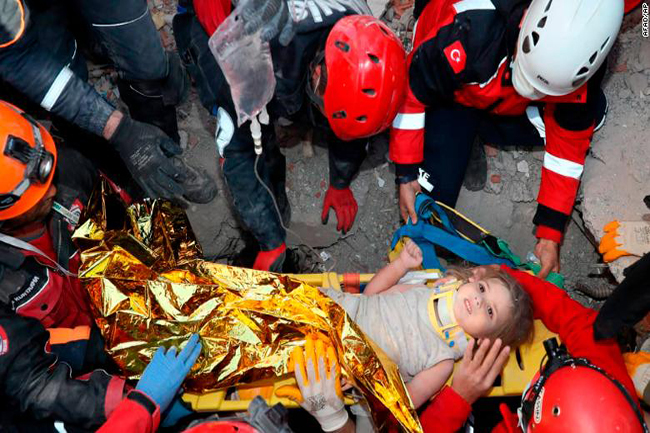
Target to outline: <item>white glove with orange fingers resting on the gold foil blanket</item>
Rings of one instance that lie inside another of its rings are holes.
[[[340,429],[348,421],[348,412],[341,392],[341,369],[332,345],[308,336],[304,352],[296,347],[291,353],[296,383],[275,391],[278,397],[289,398],[310,413],[325,432]],[[306,360],[306,362],[305,362]],[[316,369],[318,365],[318,370]]]

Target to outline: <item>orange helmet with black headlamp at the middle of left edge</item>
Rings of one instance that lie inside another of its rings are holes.
[[[45,196],[56,167],[49,132],[19,108],[0,101],[0,221],[15,218]]]

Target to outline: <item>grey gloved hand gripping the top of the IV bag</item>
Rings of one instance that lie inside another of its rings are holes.
[[[291,5],[292,0],[248,0],[239,11],[246,34],[253,34],[261,28],[263,41],[270,41],[280,34],[279,41],[286,47],[296,33],[289,10]]]

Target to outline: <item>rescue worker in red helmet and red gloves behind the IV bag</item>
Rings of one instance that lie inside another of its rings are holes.
[[[253,267],[281,271],[290,208],[274,120],[308,122],[326,131],[330,182],[321,218],[326,223],[333,209],[337,230],[348,232],[358,209],[350,183],[366,154],[367,137],[390,125],[403,99],[405,53],[383,23],[361,15],[370,13],[363,1],[313,1],[300,16],[294,16],[293,2],[287,0],[249,4],[251,10],[242,19],[251,32],[264,26],[277,81],[267,105],[270,122],[262,125],[259,158],[250,123],[236,126],[230,88],[208,48],[210,35],[231,12],[230,1],[181,2],[186,13],[174,17],[174,36],[202,104],[217,118],[223,173],[237,214],[261,250]]]

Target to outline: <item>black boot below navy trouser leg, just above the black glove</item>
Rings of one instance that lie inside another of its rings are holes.
[[[120,98],[129,107],[134,120],[157,126],[179,143],[176,106],[187,99],[190,82],[178,55],[168,53],[167,57],[167,77],[150,81],[127,81],[119,78],[117,87]]]

